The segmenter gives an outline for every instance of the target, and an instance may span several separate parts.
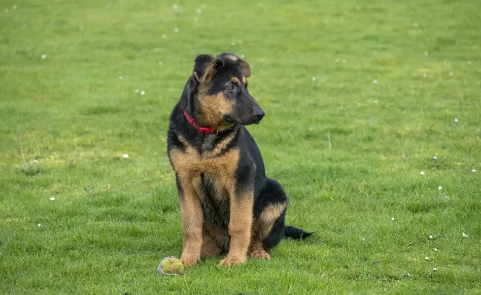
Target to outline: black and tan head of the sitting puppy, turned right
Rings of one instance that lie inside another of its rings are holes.
[[[195,59],[193,77],[204,124],[222,128],[261,121],[264,110],[247,90],[249,76],[249,64],[232,53]]]

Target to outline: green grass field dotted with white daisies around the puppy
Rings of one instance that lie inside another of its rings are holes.
[[[0,6],[0,294],[481,293],[479,1]],[[251,63],[287,224],[317,233],[161,277],[168,116],[222,51]]]

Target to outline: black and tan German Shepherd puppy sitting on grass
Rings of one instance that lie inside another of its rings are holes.
[[[228,253],[219,266],[267,251],[283,237],[312,233],[285,226],[287,197],[266,177],[259,148],[244,125],[259,123],[264,111],[247,91],[250,66],[232,53],[199,55],[167,134],[184,233],[180,261]]]

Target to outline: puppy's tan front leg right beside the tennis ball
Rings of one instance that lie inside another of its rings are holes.
[[[177,179],[177,190],[180,198],[180,210],[182,214],[182,230],[184,232],[184,244],[180,261],[184,266],[196,266],[201,258],[202,248],[202,214],[201,201],[199,199],[199,179]]]

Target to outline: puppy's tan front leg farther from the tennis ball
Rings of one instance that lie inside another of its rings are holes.
[[[254,191],[231,194],[231,216],[229,220],[229,235],[231,242],[227,257],[219,262],[219,266],[232,266],[244,263],[250,244]]]

